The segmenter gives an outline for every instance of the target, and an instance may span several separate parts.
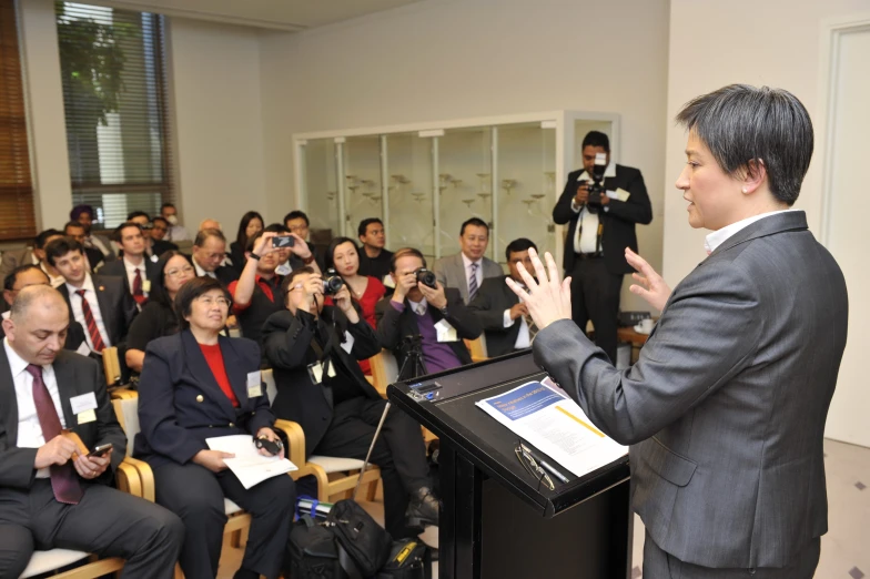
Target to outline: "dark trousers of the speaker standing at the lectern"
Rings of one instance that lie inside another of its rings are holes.
[[[649,537],[644,540],[644,579],[812,579],[821,555],[821,539],[810,541],[788,567],[773,569],[711,569],[680,561]]]

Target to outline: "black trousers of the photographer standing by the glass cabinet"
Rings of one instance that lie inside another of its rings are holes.
[[[571,276],[571,318],[586,332],[586,323],[595,326],[595,344],[616,364],[616,331],[619,318],[619,294],[623,275],[607,271],[604,257],[574,261]]]

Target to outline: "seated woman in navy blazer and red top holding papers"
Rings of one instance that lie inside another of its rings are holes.
[[[232,435],[279,439],[260,382],[260,348],[250,339],[220,335],[229,309],[230,294],[216,280],[195,277],[179,291],[181,333],[148,345],[135,456],[153,469],[158,504],[184,522],[179,562],[185,577],[216,577],[226,497],[253,518],[234,577],[274,579],[293,520],[293,479],[279,475],[245,489],[224,463],[233,455],[210,450],[205,443]],[[265,449],[261,454],[267,455]]]

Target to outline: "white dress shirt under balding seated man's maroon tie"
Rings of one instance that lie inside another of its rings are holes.
[[[12,372],[12,382],[16,385],[16,403],[18,404],[18,440],[14,440],[13,444],[19,448],[39,448],[47,440],[42,436],[42,425],[39,423],[37,404],[33,402],[33,376],[27,370],[28,362],[12,349],[8,338],[3,338],[3,347],[6,348],[7,358],[9,358],[9,369]],[[45,388],[49,389],[51,402],[54,403],[61,428],[67,428],[63,407],[60,404],[58,379],[54,376],[54,368],[51,364],[42,366],[42,382],[45,384]],[[37,470],[37,478],[48,477],[48,468]]]

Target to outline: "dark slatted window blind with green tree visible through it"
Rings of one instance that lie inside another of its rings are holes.
[[[57,2],[72,204],[113,228],[174,202],[163,17]]]

